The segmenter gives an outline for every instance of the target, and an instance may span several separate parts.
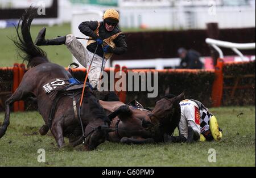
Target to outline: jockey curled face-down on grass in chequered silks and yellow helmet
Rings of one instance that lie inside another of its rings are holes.
[[[200,101],[185,99],[180,101],[180,109],[179,136],[164,135],[164,142],[191,143],[222,138],[216,117]]]

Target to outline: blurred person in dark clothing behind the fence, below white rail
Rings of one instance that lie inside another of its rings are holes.
[[[202,69],[203,63],[199,60],[200,53],[193,49],[186,50],[185,48],[179,48],[177,50],[179,57],[181,58],[179,69]]]

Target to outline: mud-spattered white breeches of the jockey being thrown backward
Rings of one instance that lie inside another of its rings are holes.
[[[93,58],[93,53],[89,52],[84,45],[80,43],[79,40],[72,34],[67,35],[65,45],[69,51],[73,54],[73,56],[81,63],[82,66],[89,69],[90,61]],[[102,66],[102,57],[97,54],[94,55],[92,65],[90,66],[90,71],[88,74],[88,78],[92,87],[97,87],[98,82],[100,81],[101,75],[101,66],[105,67],[106,59],[104,59]],[[88,72],[88,71],[87,71]]]

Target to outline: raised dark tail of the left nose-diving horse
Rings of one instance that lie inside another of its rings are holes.
[[[18,26],[15,27],[18,39],[13,40],[13,42],[24,53],[23,55],[19,53],[19,56],[23,58],[23,62],[28,62],[27,67],[34,67],[40,63],[49,62],[46,52],[33,43],[30,35],[30,26],[36,15],[37,9],[30,6],[19,19]],[[20,22],[22,22],[21,34],[19,32]]]

